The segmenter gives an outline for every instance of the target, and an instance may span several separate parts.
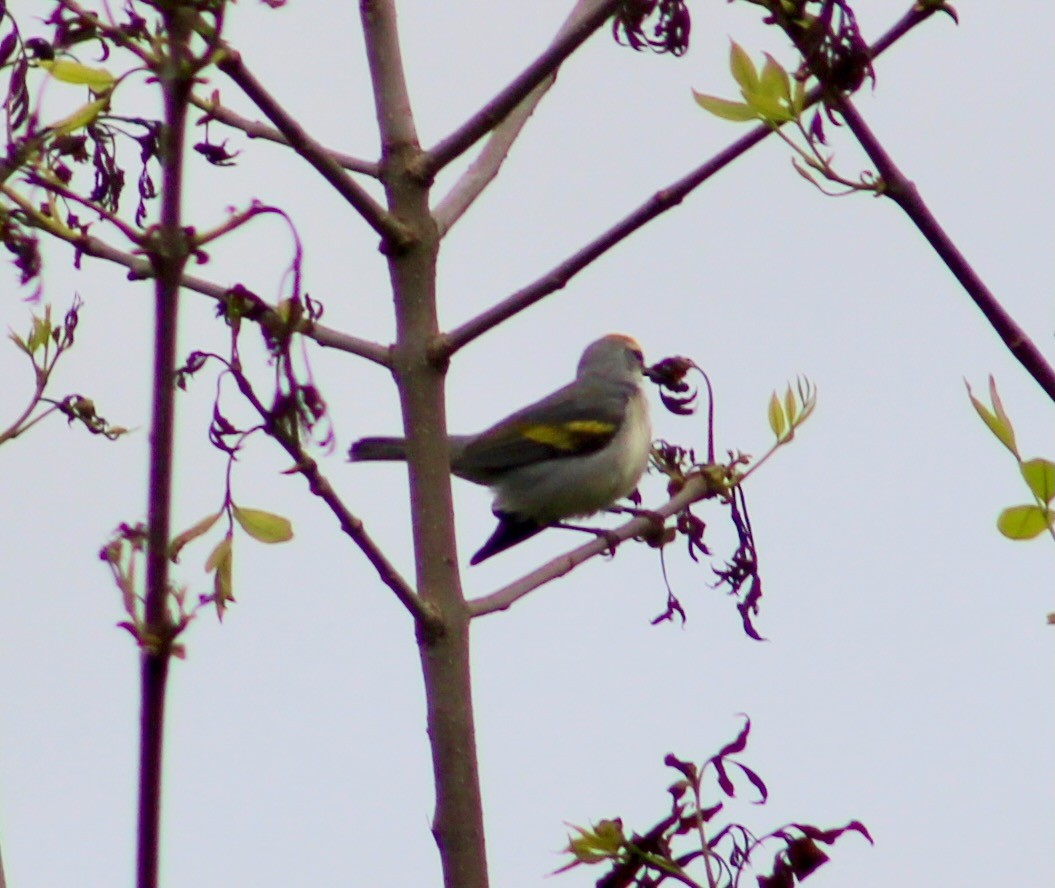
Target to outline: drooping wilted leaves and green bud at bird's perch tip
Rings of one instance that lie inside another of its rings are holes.
[[[677,360],[684,361],[685,359]],[[674,361],[674,359],[669,361]],[[689,363],[691,364],[691,362]],[[659,366],[663,365],[657,365],[657,367]],[[668,365],[668,369],[673,372],[676,383],[680,383],[676,366],[671,363]],[[661,378],[663,374],[655,375]],[[680,385],[684,386],[684,383]],[[676,390],[684,392],[685,388],[679,387]],[[694,398],[694,393],[683,394],[680,400],[675,400],[673,405],[668,406],[671,406],[673,412],[683,412],[683,406],[691,404]],[[711,402],[708,437],[713,442],[713,398]],[[685,487],[690,478],[703,478],[707,483],[709,498],[720,499],[729,508],[729,520],[736,530],[736,548],[724,564],[712,566],[711,570],[714,572],[716,587],[725,588],[730,596],[736,599],[736,610],[740,613],[744,632],[756,641],[762,640],[762,635],[754,625],[754,619],[759,615],[762,601],[762,577],[759,573],[759,553],[754,543],[754,534],[747,511],[744,481],[778,449],[794,439],[795,430],[809,419],[816,406],[817,390],[808,380],[799,381],[794,389],[788,385],[783,398],[773,392],[767,412],[775,441],[759,460],[753,462],[748,456],[732,451],[728,453],[726,462],[715,462],[713,443],[709,445],[708,459],[705,461],[697,459],[696,452],[692,448],[680,447],[667,441],[657,441],[653,444],[652,467],[667,476],[667,490],[670,496],[674,496]],[[706,528],[705,522],[692,511],[691,507],[687,507],[678,513],[672,526],[665,527],[664,533],[651,542],[663,547],[673,542],[677,537],[683,537],[686,540],[689,557],[698,562],[701,557],[709,558],[711,556],[711,552],[704,541]],[[664,576],[666,579],[666,571]],[[683,622],[686,619],[685,609],[668,582],[667,607],[653,620],[653,623],[672,620],[675,615]]]

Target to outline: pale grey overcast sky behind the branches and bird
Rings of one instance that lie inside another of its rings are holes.
[[[23,18],[41,6],[8,5]],[[533,59],[568,5],[400,4],[423,142]],[[903,5],[859,2],[865,35]],[[497,182],[444,243],[444,326],[535,279],[741,135],[702,112],[690,88],[733,95],[730,37],[755,58],[792,57],[749,4],[691,8],[692,49],[680,60],[601,34],[562,70]],[[935,17],[884,56],[859,107],[1051,359],[1055,12],[1028,0],[959,12],[959,27]],[[354,4],[244,2],[232,13],[232,42],[279,99],[323,142],[375,157]],[[226,101],[260,116],[216,82]],[[244,152],[234,169],[191,160],[188,219],[214,224],[253,197],[286,208],[326,323],[389,341],[376,235],[289,152],[237,134],[231,147]],[[836,151],[845,171],[862,168],[848,136]],[[218,245],[200,272],[274,300],[290,250],[286,229],[264,220]],[[99,262],[76,272],[64,249],[47,257],[45,297],[58,308],[75,292],[85,302],[56,392],[89,394],[136,432],[111,444],[50,421],[0,455],[0,848],[12,888],[111,888],[132,881],[138,669],[96,555],[116,524],[143,514],[150,288]],[[26,306],[4,276],[4,324],[21,329]],[[212,314],[188,295],[184,352],[223,348]],[[768,640],[744,637],[734,602],[679,549],[668,566],[688,623],[650,625],[666,593],[645,546],[479,621],[492,884],[543,884],[563,862],[565,822],[621,815],[631,829],[652,826],[675,776],[664,755],[706,758],[738,730],[740,713],[753,721],[744,759],[771,800],[733,807],[736,819],[765,832],[859,818],[876,838],[875,848],[844,838],[813,888],[1035,884],[1055,834],[1055,630],[1044,625],[1055,553],[1050,541],[997,534],[998,511],[1025,491],[963,381],[984,391],[996,377],[1027,457],[1055,457],[1052,404],[893,204],[820,195],[774,139],[460,353],[453,428],[477,430],[563,384],[582,347],[614,330],[636,336],[650,360],[687,354],[707,368],[721,451],[764,451],[773,388],[799,374],[819,388],[814,417],[747,491]],[[338,439],[324,470],[411,573],[405,470],[343,456],[360,436],[399,431],[390,380],[348,354],[309,351]],[[19,359],[0,349],[0,418],[30,391]],[[206,442],[212,390],[203,377],[180,397],[179,527],[223,497],[225,461]],[[657,437],[704,441],[701,417],[672,417],[655,399],[653,412]],[[236,540],[237,603],[223,625],[210,615],[193,625],[188,659],[172,670],[164,884],[439,885],[409,620],[303,481],[277,474],[286,467],[262,440],[234,490],[244,505],[289,516],[295,542]],[[491,533],[490,498],[464,482],[455,490],[467,564]],[[654,477],[642,493],[647,504],[665,499]],[[699,514],[722,553],[723,514]],[[466,570],[466,592],[486,594],[580,542],[542,534]],[[195,593],[208,591],[208,548],[189,548],[180,568]],[[599,875],[580,868],[544,884],[579,888]]]

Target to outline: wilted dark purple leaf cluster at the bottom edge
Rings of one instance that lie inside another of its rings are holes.
[[[668,788],[670,813],[651,829],[629,835],[618,817],[589,828],[572,826],[576,834],[569,836],[564,851],[573,860],[557,872],[609,865],[609,871],[597,881],[598,888],[657,888],[665,883],[735,888],[754,870],[763,849],[776,845],[768,858],[770,874],[756,876],[759,887],[793,888],[829,860],[821,845],[831,845],[846,832],[871,842],[868,830],[858,821],[837,829],[787,824],[761,836],[740,823],[717,826],[727,800],[736,797],[730,772],[746,778],[757,793],[755,804],[764,805],[768,798],[762,777],[734,758],[747,748],[750,731],[750,719],[745,719],[736,738],[698,766],[668,755],[666,765],[679,775]],[[709,794],[706,803],[705,794]]]

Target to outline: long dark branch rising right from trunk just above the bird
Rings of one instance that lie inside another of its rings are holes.
[[[903,37],[916,25],[929,18],[933,11],[917,11],[915,7],[906,13],[902,18],[884,34],[871,47],[871,56],[875,58],[883,51],[889,49],[898,39]],[[816,104],[821,98],[819,89],[811,90],[806,95],[806,105]],[[507,321],[525,308],[530,308],[535,303],[545,298],[551,293],[562,289],[568,282],[578,274],[582,269],[593,263],[596,258],[607,253],[621,240],[629,237],[637,229],[654,219],[656,216],[676,207],[692,191],[702,186],[715,173],[729,166],[733,160],[745,152],[754,148],[759,142],[772,134],[772,130],[767,124],[760,124],[734,142],[730,143],[723,151],[711,157],[706,163],[697,167],[691,173],[683,176],[667,188],[657,191],[640,207],[625,216],[620,221],[612,226],[608,231],[595,237],[576,253],[573,253],[559,265],[550,269],[538,279],[526,287],[517,290],[513,295],[502,300],[487,310],[481,312],[476,317],[466,321],[460,327],[456,327],[449,333],[439,337],[435,349],[435,358],[448,358],[462,346],[473,342],[473,340],[487,332],[493,327],[497,327],[503,321]]]

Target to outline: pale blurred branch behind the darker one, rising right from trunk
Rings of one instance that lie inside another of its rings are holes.
[[[593,7],[602,2],[605,0],[579,0],[550,45],[553,46],[564,39],[569,33],[576,31],[583,18],[592,12]],[[517,136],[520,135],[520,131],[523,129],[524,123],[528,122],[528,118],[534,114],[538,103],[542,100],[542,96],[550,91],[550,88],[556,81],[557,72],[554,70],[495,127],[491,133],[491,137],[487,139],[487,143],[481,149],[480,154],[469,165],[469,168],[462,174],[450,191],[447,192],[447,195],[437,205],[433,216],[436,218],[436,225],[441,237],[450,230],[452,226],[461,218],[462,214],[473,205],[473,201],[480,196],[487,185],[498,175],[498,171],[510,153],[510,148],[516,141]]]

